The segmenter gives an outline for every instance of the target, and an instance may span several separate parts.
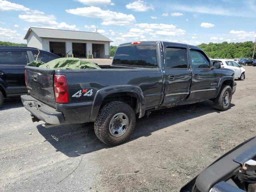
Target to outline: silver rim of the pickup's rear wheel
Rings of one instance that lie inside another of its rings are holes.
[[[109,132],[114,137],[120,137],[126,132],[128,125],[128,116],[124,113],[117,113],[110,120]]]

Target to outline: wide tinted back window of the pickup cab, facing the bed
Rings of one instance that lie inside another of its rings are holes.
[[[157,68],[156,46],[135,45],[119,47],[116,50],[113,64]]]

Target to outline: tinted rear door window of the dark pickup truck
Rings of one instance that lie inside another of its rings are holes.
[[[183,48],[166,48],[167,68],[188,68],[187,52]]]

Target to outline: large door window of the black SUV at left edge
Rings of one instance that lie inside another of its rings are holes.
[[[26,51],[0,51],[0,65],[26,65],[28,63]]]

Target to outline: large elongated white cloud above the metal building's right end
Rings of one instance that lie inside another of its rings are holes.
[[[83,7],[83,8],[76,8],[76,9],[68,9],[66,12],[80,15],[90,18],[101,18],[103,22],[102,25],[131,25],[136,22],[135,17],[132,14],[124,14],[119,12],[114,12],[110,10],[102,10],[99,7]]]

